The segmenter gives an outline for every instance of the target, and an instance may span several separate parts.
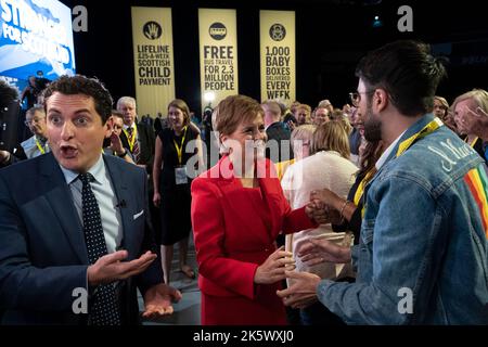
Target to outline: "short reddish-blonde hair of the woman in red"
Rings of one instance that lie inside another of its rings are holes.
[[[243,121],[254,121],[264,116],[261,105],[245,95],[230,95],[223,99],[214,110],[213,127],[220,134],[231,134]]]

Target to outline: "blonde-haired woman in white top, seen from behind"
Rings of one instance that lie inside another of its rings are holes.
[[[330,189],[339,196],[346,197],[355,181],[358,168],[349,160],[349,141],[344,127],[336,121],[319,126],[311,141],[312,155],[299,160],[286,170],[282,188],[292,208],[304,206],[310,201],[313,190]],[[350,243],[345,233],[332,231],[332,226],[321,224],[317,229],[304,230],[293,236],[292,250],[309,237],[325,237],[338,244]],[[296,271],[307,271],[322,279],[336,280],[351,277],[349,266],[323,262],[307,266],[296,259]],[[341,320],[331,313],[323,305],[316,303],[300,312],[304,324],[336,324]]]

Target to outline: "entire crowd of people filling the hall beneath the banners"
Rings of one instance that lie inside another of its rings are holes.
[[[136,288],[143,317],[171,313],[178,244],[202,324],[488,324],[488,92],[449,105],[419,41],[356,75],[341,108],[231,95],[201,123],[180,99],[146,121],[97,79],[50,83],[0,151],[2,322],[137,323]]]

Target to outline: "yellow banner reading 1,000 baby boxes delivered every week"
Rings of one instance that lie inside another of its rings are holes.
[[[295,12],[259,11],[261,101],[296,100]]]

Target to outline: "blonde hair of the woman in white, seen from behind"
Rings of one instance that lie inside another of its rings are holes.
[[[335,151],[342,157],[350,158],[349,138],[338,121],[328,121],[317,127],[310,150],[311,154],[320,151]]]

